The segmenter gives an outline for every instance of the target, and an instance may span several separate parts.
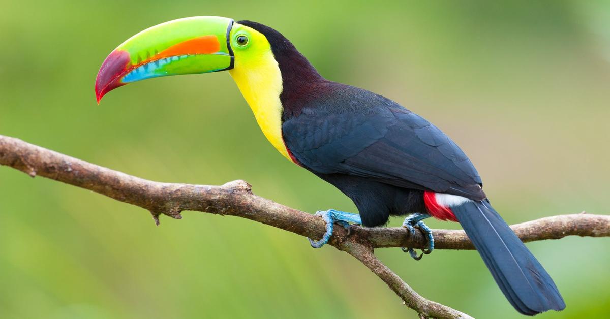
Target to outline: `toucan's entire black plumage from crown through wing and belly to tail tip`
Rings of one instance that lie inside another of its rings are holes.
[[[553,280],[489,205],[472,162],[440,129],[396,102],[324,79],[276,30],[267,37],[282,74],[282,135],[296,163],[356,204],[364,226],[426,212],[424,192],[470,199],[451,206],[511,304],[522,314],[561,310]]]

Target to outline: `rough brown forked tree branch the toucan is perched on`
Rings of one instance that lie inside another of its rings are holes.
[[[319,239],[325,232],[321,218],[254,195],[251,186],[244,181],[221,186],[153,182],[3,135],[0,135],[0,165],[16,168],[32,177],[47,177],[140,206],[152,213],[157,224],[161,214],[179,219],[182,218],[182,211],[196,210],[247,218],[309,238]],[[524,242],[568,235],[608,237],[610,216],[584,213],[559,215],[511,227]],[[335,229],[329,244],[356,257],[420,317],[470,318],[423,298],[373,254],[375,248],[425,248],[426,240],[421,232],[411,236],[404,228],[354,226],[353,232],[348,235],[341,227]],[[436,249],[473,249],[464,231],[435,229],[433,234]]]

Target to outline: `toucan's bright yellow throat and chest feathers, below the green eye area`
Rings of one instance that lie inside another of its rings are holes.
[[[229,71],[267,140],[284,157],[290,159],[282,138],[282,74],[278,62],[271,54],[259,57],[257,63],[249,63],[248,68],[236,67]]]

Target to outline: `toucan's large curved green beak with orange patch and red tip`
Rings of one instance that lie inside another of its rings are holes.
[[[118,46],[104,60],[95,80],[102,99],[122,85],[151,77],[230,70],[234,56],[229,45],[233,20],[193,16],[149,27]]]

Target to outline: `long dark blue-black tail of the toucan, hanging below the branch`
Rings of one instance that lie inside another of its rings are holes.
[[[517,311],[536,315],[565,308],[553,279],[487,200],[467,201],[451,210]]]

